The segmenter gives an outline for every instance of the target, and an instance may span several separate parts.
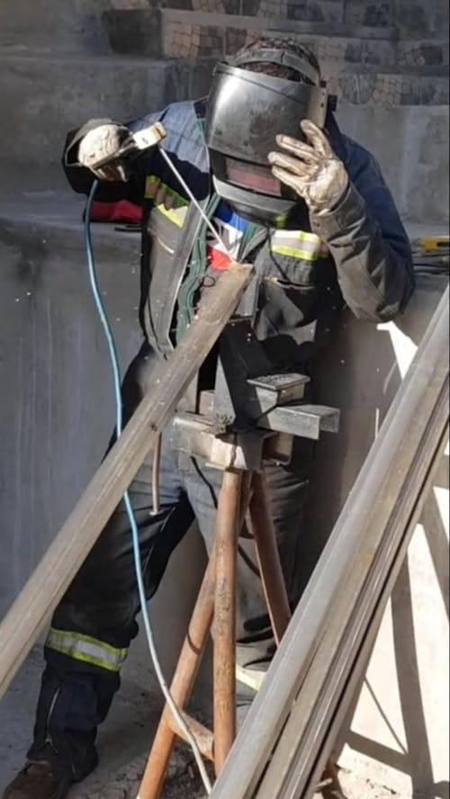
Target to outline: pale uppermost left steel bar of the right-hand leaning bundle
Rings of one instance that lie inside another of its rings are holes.
[[[342,588],[359,596],[448,376],[448,290],[368,454],[218,781],[214,799],[251,799],[308,676]],[[425,403],[428,398],[428,403]],[[427,405],[428,413],[425,410]],[[409,453],[407,457],[407,453]],[[401,459],[401,463],[400,460]],[[367,531],[372,530],[369,545]],[[274,799],[274,795],[270,796]],[[296,797],[297,799],[297,797]]]

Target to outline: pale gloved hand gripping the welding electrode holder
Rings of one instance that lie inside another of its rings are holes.
[[[108,122],[89,130],[78,145],[78,163],[87,166],[99,180],[121,181],[126,183],[130,172],[121,160],[115,158],[110,164],[95,168],[95,164],[103,158],[113,156],[130,138],[130,130],[124,125]]]

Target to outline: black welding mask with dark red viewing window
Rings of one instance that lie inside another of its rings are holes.
[[[252,62],[290,67],[302,79],[242,68]],[[217,64],[205,128],[216,193],[246,219],[283,226],[302,201],[275,178],[267,157],[277,148],[277,134],[302,138],[302,120],[323,129],[328,109],[325,83],[309,61],[293,53],[262,49],[237,62]]]

